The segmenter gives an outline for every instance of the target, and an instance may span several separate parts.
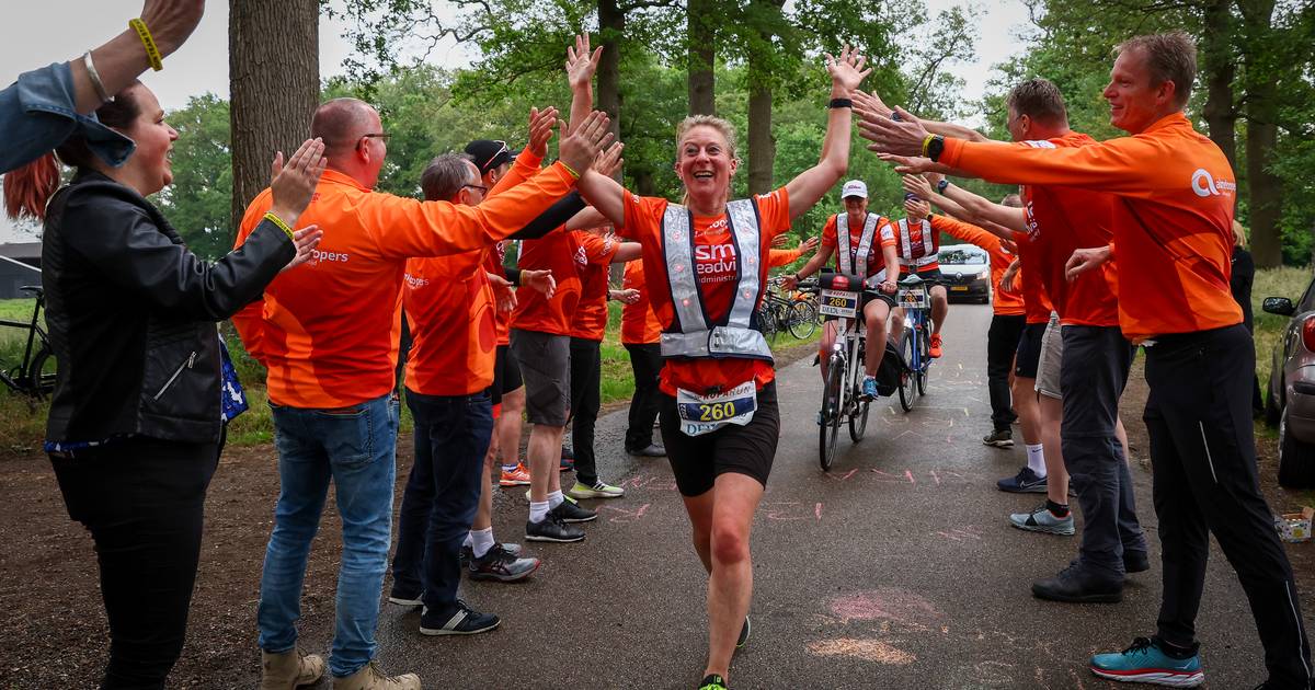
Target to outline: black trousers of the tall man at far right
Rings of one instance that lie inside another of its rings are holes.
[[[1145,348],[1151,396],[1144,419],[1164,556],[1159,633],[1173,644],[1194,641],[1214,532],[1251,602],[1269,687],[1304,690],[1310,643],[1293,569],[1256,474],[1252,339],[1239,323],[1156,340]]]

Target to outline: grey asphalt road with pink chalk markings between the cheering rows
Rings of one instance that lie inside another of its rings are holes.
[[[989,321],[989,306],[953,305],[927,397],[907,414],[893,400],[874,403],[861,443],[842,431],[830,473],[817,460],[811,357],[778,372],[781,442],[753,523],[753,636],[731,687],[1112,687],[1086,670],[1088,657],[1153,632],[1159,538],[1140,468],[1151,572],[1130,576],[1118,605],[1031,597],[1032,580],[1064,568],[1077,540],[1007,523],[1043,497],[995,490],[1023,449],[980,440],[990,426]],[[592,502],[601,513],[585,541],[529,544],[543,566],[527,582],[464,584],[463,598],[502,618],[485,635],[423,637],[418,612],[384,603],[387,669],[444,689],[696,686],[706,577],[665,461],[625,456],[625,411],[600,419],[601,473],[627,493]],[[500,492],[496,536],[523,541],[526,510],[522,492]],[[1218,548],[1211,556],[1198,619],[1207,686],[1252,687],[1265,678],[1255,623],[1232,569]],[[1310,622],[1315,599],[1303,595]]]

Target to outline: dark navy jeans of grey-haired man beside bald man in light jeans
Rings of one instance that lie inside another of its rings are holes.
[[[406,406],[416,419],[416,464],[397,515],[393,587],[406,595],[423,593],[425,607],[443,615],[456,609],[462,541],[480,503],[493,407],[488,392],[421,396],[410,390]]]

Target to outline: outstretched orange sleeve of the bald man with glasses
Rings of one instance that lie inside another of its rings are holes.
[[[559,163],[479,206],[364,195],[356,206],[383,256],[444,256],[480,250],[525,227],[565,196],[575,177]]]

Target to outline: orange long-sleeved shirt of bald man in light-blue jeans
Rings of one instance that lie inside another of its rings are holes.
[[[391,392],[406,259],[484,248],[573,184],[555,164],[479,206],[463,206],[372,192],[326,171],[299,219],[325,233],[312,260],[276,277],[262,300],[233,317],[247,351],[270,371],[270,400],[343,407]],[[237,244],[270,206],[266,189],[247,206]]]

